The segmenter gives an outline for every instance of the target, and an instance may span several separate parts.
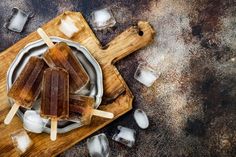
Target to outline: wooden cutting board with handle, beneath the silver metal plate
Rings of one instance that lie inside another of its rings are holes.
[[[149,44],[154,36],[154,30],[149,23],[140,21],[137,26],[128,28],[105,47],[102,47],[79,12],[65,12],[43,25],[42,28],[48,35],[67,38],[57,27],[63,16],[70,16],[77,27],[81,29],[71,40],[85,46],[100,64],[104,77],[104,97],[99,108],[113,112],[115,118],[107,120],[93,117],[91,125],[65,134],[58,134],[56,142],[50,140],[49,134],[29,133],[34,145],[24,156],[55,156],[131,110],[133,95],[114,63]],[[38,39],[40,37],[36,32],[33,32],[0,54],[0,156],[19,156],[12,144],[10,133],[23,128],[22,122],[17,116],[14,117],[10,125],[6,126],[3,123],[10,110],[6,91],[6,73],[20,49],[29,42]]]

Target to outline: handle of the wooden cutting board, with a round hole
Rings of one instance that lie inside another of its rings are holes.
[[[146,46],[153,40],[154,34],[155,31],[148,22],[139,21],[138,26],[127,29],[106,46],[108,47],[105,49],[106,57],[103,59],[108,59],[110,63],[114,64],[116,61]]]

